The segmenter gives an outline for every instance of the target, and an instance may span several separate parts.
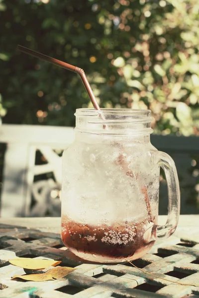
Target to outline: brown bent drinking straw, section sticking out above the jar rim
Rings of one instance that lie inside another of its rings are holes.
[[[82,81],[83,81],[83,84],[84,84],[84,86],[85,86],[85,88],[86,88],[86,90],[87,90],[87,93],[89,94],[89,97],[90,97],[90,99],[91,99],[91,102],[92,102],[94,108],[95,108],[96,110],[100,110],[100,106],[99,106],[99,104],[98,104],[98,102],[97,102],[97,100],[96,100],[96,97],[95,97],[95,95],[94,95],[92,89],[91,89],[91,85],[90,85],[90,83],[89,83],[89,81],[88,81],[88,79],[87,79],[87,77],[86,77],[86,74],[84,73],[84,71],[83,71],[81,68],[79,68],[79,67],[77,67],[77,66],[73,66],[73,65],[68,64],[68,63],[65,63],[65,62],[63,62],[63,61],[54,59],[54,58],[52,58],[52,57],[46,56],[46,55],[41,54],[41,53],[39,53],[39,52],[35,52],[35,51],[33,51],[33,50],[30,50],[30,49],[28,49],[28,48],[25,48],[25,47],[22,47],[22,46],[19,46],[19,45],[17,45],[16,48],[17,48],[19,51],[21,51],[21,52],[23,52],[23,53],[25,53],[25,54],[29,54],[29,55],[31,55],[31,56],[34,56],[34,57],[38,58],[38,59],[41,59],[41,60],[50,62],[50,63],[52,63],[52,64],[54,64],[54,65],[57,65],[57,66],[59,66],[59,67],[65,68],[65,69],[67,69],[67,70],[69,70],[69,71],[72,71],[72,72],[74,72],[74,73],[79,74],[80,77],[81,77],[81,79],[82,79]]]

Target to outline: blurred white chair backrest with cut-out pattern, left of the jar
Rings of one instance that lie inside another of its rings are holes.
[[[0,126],[0,143],[6,143],[1,217],[59,216],[60,200],[55,200],[61,187],[61,157],[54,149],[63,150],[74,141],[72,127],[10,125]],[[45,164],[35,165],[39,150]],[[53,173],[54,179],[34,182],[34,177]],[[52,197],[52,191],[54,195]]]

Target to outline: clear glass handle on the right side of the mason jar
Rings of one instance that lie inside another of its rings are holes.
[[[152,153],[152,152],[151,152]],[[153,226],[153,236],[156,239],[166,239],[171,236],[177,227],[180,215],[180,187],[176,165],[167,153],[153,151],[155,163],[162,167],[165,172],[168,189],[168,218],[165,225]],[[153,155],[152,153],[152,155]]]

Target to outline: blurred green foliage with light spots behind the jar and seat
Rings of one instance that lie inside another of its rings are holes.
[[[74,127],[91,107],[79,76],[17,44],[82,68],[100,107],[150,109],[154,134],[199,136],[198,0],[0,0],[2,123]],[[199,213],[199,155],[175,158],[182,213]]]

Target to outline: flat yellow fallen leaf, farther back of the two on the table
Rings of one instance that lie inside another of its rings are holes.
[[[42,259],[31,259],[31,258],[15,258],[8,260],[10,264],[22,267],[25,269],[44,269],[50,266],[57,266],[61,261],[54,260],[42,260]]]

